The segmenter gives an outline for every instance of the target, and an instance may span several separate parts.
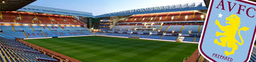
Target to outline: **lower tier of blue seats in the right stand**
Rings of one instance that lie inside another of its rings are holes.
[[[150,34],[158,35],[160,32],[166,32],[166,35],[171,34],[182,34],[182,35],[198,35],[200,36],[201,31],[203,31],[203,25],[118,25],[113,27],[111,30],[113,32],[118,33],[127,33],[127,32],[135,32],[141,34]],[[131,34],[131,33],[130,33]],[[176,35],[177,36],[177,35]]]

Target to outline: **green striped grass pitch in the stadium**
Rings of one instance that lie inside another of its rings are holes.
[[[198,45],[105,36],[25,41],[84,62],[181,62]]]

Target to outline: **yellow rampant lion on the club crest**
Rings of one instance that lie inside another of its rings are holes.
[[[218,44],[218,45],[221,45],[222,47],[229,47],[231,48],[232,47],[232,51],[231,52],[228,52],[228,51],[225,51],[224,53],[228,56],[228,55],[231,55],[231,54],[234,54],[235,53],[235,50],[237,50],[237,47],[238,45],[242,45],[244,44],[244,40],[242,39],[242,36],[240,34],[240,31],[243,30],[243,31],[247,31],[249,30],[248,27],[242,27],[239,29],[239,26],[240,26],[240,17],[236,16],[236,15],[231,15],[230,17],[227,17],[226,18],[226,24],[229,24],[227,26],[222,26],[218,20],[215,21],[215,24],[218,25],[218,27],[221,29],[221,31],[224,31],[223,33],[222,32],[216,32],[216,36],[222,36],[221,39],[221,42],[218,41],[218,39],[215,39],[214,40],[214,44]],[[237,41],[235,39],[235,36],[236,36],[236,32],[238,30],[238,34],[239,34],[239,37],[241,39],[241,42]],[[236,43],[238,45],[236,45]]]

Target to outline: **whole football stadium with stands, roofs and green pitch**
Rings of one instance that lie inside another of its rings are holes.
[[[208,62],[197,48],[209,0],[98,16],[35,1],[1,0],[1,62]]]

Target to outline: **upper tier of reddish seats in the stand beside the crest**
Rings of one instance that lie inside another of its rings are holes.
[[[167,21],[204,21],[203,13],[188,12],[167,12],[167,13],[151,13],[146,15],[134,15],[125,18],[122,22],[167,22]]]

